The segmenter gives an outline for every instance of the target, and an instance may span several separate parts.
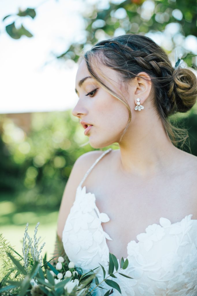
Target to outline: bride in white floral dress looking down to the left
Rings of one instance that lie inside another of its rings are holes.
[[[126,34],[83,55],[76,93],[72,114],[99,150],[74,163],[56,251],[87,271],[107,271],[109,252],[128,258],[132,279],[113,278],[124,296],[197,295],[197,157],[177,148],[168,119],[195,104],[196,76],[152,39]]]

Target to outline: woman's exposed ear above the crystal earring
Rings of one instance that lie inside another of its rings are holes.
[[[132,84],[134,86],[135,103],[137,104],[137,98],[140,98],[140,103],[143,105],[149,97],[152,88],[150,76],[146,72],[140,72],[138,73],[138,77],[133,79]]]

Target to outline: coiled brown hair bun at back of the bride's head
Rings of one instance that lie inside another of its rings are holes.
[[[178,68],[173,72],[176,85],[175,105],[177,112],[187,112],[196,103],[197,79],[192,70]]]

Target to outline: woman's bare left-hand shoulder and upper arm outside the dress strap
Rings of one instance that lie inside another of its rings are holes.
[[[57,233],[60,239],[62,238],[62,232],[64,230],[66,219],[75,200],[76,189],[87,170],[102,153],[103,151],[101,150],[86,152],[77,158],[72,167],[59,209]]]

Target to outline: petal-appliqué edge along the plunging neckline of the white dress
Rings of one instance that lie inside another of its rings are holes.
[[[78,190],[78,189],[80,189],[81,191],[82,190],[84,190],[85,191],[85,195],[87,195],[87,194],[92,194],[94,197],[95,197],[95,194],[94,193],[92,193],[92,192],[86,192],[86,186],[81,186],[80,184],[79,184],[79,186],[77,187],[77,189],[76,190]],[[96,204],[96,197],[95,197],[95,207],[96,207],[96,209],[97,209],[97,212],[98,213],[100,213],[100,210],[98,209],[98,207],[97,207],[97,204]],[[108,214],[107,214],[108,215]],[[196,221],[197,222],[197,219],[191,219],[191,217],[193,216],[193,214],[188,214],[188,215],[186,215],[184,218],[182,218],[180,221],[177,221],[177,222],[174,222],[174,223],[171,223],[171,221],[168,219],[168,218],[164,218],[164,217],[161,217],[160,219],[159,219],[159,223],[153,223],[153,224],[150,224],[150,225],[148,225],[148,226],[146,226],[146,228],[145,228],[145,231],[146,231],[146,229],[149,227],[149,226],[152,226],[152,225],[156,225],[156,226],[160,226],[161,228],[168,228],[168,227],[171,227],[171,226],[175,226],[176,224],[180,224],[180,222],[182,221],[182,220],[184,220],[185,218],[187,218],[188,217],[188,219],[190,219],[191,221]],[[110,218],[109,218],[110,219]],[[164,224],[163,224],[163,226],[162,226],[162,224],[161,224],[161,219],[162,219],[162,221],[163,221],[163,223],[165,224],[165,222],[167,222],[167,221],[169,221],[169,225],[167,226],[164,226]],[[102,223],[102,222],[101,222]],[[106,223],[106,222],[105,222]],[[100,224],[100,226],[101,226],[101,229],[102,229],[102,231],[103,231],[103,233],[106,233],[105,231],[104,231],[104,229],[103,229],[103,227],[102,227],[102,225]],[[141,234],[144,234],[143,232],[142,233],[140,233],[140,234],[137,234],[136,235],[136,239],[137,239],[137,237],[138,236],[140,236]],[[108,236],[109,236],[109,234],[107,234]],[[110,236],[109,236],[110,237]],[[111,239],[111,240],[113,240],[113,239]],[[138,240],[138,239],[137,239]],[[127,259],[128,258],[128,245],[131,243],[131,242],[134,242],[134,243],[136,243],[136,244],[139,244],[140,243],[140,241],[138,240],[138,242],[136,242],[136,240],[134,240],[134,239],[131,239],[128,243],[127,243],[127,246],[126,246],[126,253],[127,253],[127,257],[126,258],[124,258],[124,260],[125,259]],[[106,245],[106,248],[107,248],[107,250],[108,250],[108,253],[111,253],[110,252],[110,250],[109,250],[109,247],[108,247],[108,244],[107,244],[107,239],[106,239],[106,237],[105,237],[105,245]],[[119,261],[119,258],[117,258],[118,259],[118,261]]]

